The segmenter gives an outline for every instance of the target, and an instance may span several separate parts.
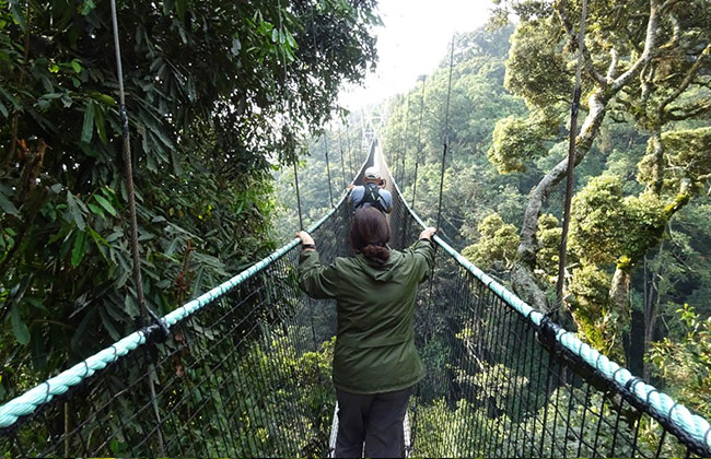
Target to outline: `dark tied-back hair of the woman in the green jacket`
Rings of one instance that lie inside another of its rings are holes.
[[[391,242],[391,225],[375,208],[361,208],[353,215],[350,226],[350,244],[357,254],[363,254],[376,264],[385,264],[391,258],[386,244]]]

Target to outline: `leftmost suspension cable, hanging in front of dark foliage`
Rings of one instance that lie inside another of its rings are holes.
[[[143,295],[143,281],[141,279],[141,259],[138,252],[138,221],[136,219],[136,192],[133,190],[133,169],[131,165],[131,141],[128,127],[128,113],[126,111],[126,93],[124,90],[124,68],[121,66],[121,46],[118,39],[118,15],[116,13],[116,0],[110,1],[112,5],[112,27],[114,30],[114,54],[116,57],[116,76],[118,80],[118,97],[119,97],[119,115],[121,118],[121,136],[124,142],[121,145],[124,155],[124,175],[126,179],[126,188],[128,192],[128,212],[129,223],[131,226],[131,258],[133,260],[133,279],[136,281],[136,293],[138,296],[138,304],[141,310],[141,326],[145,325],[148,316],[162,325],[162,332],[167,337],[167,327],[163,321],[145,305],[145,297]],[[149,370],[148,370],[148,387],[151,395],[151,405],[153,408],[153,415],[155,416],[156,425],[155,432],[158,434],[159,455],[164,456],[163,433],[161,431],[161,413],[155,400],[155,366],[150,360],[149,354]]]

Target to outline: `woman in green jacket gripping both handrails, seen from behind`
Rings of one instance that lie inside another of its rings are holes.
[[[407,400],[424,369],[415,349],[417,286],[434,262],[430,227],[412,247],[391,250],[391,227],[375,208],[356,211],[350,229],[354,257],[322,266],[314,239],[302,243],[299,284],[313,298],[336,298],[338,338],[334,386],[338,398],[337,457],[401,454]]]

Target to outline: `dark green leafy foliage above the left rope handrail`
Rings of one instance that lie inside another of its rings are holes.
[[[118,2],[151,308],[273,247],[272,168],[374,63],[373,8]],[[0,1],[0,392],[137,327],[109,14]]]

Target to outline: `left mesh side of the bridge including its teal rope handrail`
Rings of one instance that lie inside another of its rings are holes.
[[[343,197],[310,228],[324,261],[350,255],[351,214]],[[336,307],[299,290],[299,252],[294,240],[164,317],[165,342],[153,342],[160,330],[148,327],[4,404],[0,451],[323,456],[335,403],[328,388]]]

